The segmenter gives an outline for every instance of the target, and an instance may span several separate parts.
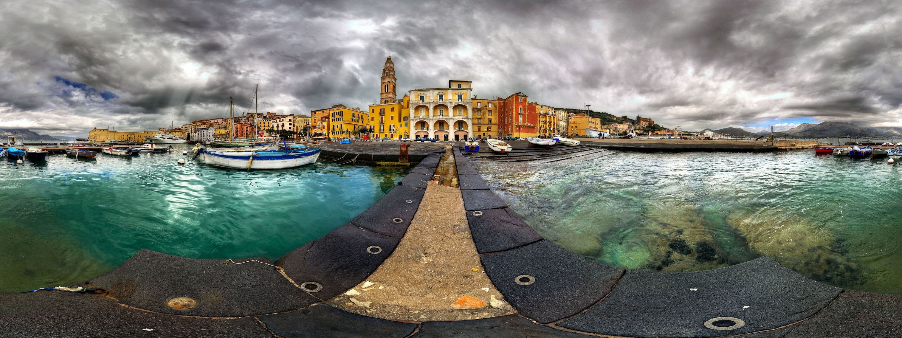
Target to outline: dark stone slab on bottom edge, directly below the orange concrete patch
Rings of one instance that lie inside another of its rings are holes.
[[[532,323],[520,315],[458,321],[426,322],[412,338],[584,338],[583,334],[568,333],[545,325]]]

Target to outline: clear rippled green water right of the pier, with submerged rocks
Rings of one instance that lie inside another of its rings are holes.
[[[628,269],[768,255],[842,288],[902,293],[902,167],[814,151],[636,153],[476,162],[534,229]]]

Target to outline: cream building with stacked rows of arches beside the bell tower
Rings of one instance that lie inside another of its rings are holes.
[[[410,90],[410,135],[438,141],[464,141],[473,135],[472,81],[448,87]]]

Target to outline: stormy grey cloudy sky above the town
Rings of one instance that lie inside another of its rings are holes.
[[[898,1],[5,1],[0,128],[137,131],[251,109],[481,97],[684,130],[902,126]]]

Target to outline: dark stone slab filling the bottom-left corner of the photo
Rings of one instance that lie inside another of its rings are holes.
[[[121,306],[108,297],[64,291],[0,295],[0,337],[144,336],[272,338],[253,317],[211,319],[155,314]]]

